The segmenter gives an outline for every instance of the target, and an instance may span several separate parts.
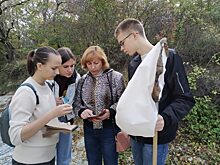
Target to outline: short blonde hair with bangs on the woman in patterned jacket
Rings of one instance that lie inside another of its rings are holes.
[[[103,70],[106,70],[109,68],[108,59],[103,49],[99,46],[90,46],[85,50],[85,52],[82,55],[82,58],[81,58],[82,69],[88,70],[86,63],[95,58],[100,59],[102,61]]]

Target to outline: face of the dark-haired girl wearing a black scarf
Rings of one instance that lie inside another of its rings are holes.
[[[72,58],[69,59],[59,67],[59,74],[67,78],[71,77],[74,72],[75,64],[75,60],[73,60]]]

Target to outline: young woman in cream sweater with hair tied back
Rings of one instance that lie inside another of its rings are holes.
[[[45,83],[59,74],[60,54],[51,47],[40,47],[27,56],[27,69],[30,77],[24,83],[31,84],[39,97],[36,104],[34,92],[21,86],[15,92],[11,103],[9,136],[15,145],[12,164],[54,165],[58,135],[43,137],[45,125],[58,121],[59,116],[72,112],[72,106],[57,106],[50,87]]]

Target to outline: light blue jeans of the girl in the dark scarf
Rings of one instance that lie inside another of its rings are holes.
[[[66,122],[65,118],[59,117],[61,122]],[[57,165],[70,165],[72,159],[72,133],[60,133],[57,143]]]

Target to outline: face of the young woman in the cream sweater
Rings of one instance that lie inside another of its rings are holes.
[[[38,69],[42,73],[42,77],[45,80],[53,80],[54,77],[59,74],[59,66],[61,66],[61,57],[58,55],[49,55],[46,64],[38,63]]]

